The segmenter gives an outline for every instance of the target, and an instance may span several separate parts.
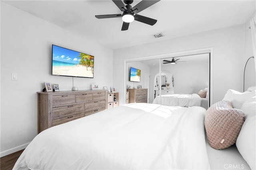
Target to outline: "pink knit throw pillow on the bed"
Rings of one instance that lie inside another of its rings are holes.
[[[206,111],[204,126],[208,141],[214,149],[225,149],[236,143],[244,123],[244,112],[222,100]]]

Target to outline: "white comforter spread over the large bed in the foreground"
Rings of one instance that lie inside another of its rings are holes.
[[[38,134],[14,169],[210,169],[202,107],[128,104]]]

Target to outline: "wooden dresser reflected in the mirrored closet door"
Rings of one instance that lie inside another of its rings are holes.
[[[127,89],[129,92],[129,103],[147,103],[148,89],[147,88],[131,88]]]

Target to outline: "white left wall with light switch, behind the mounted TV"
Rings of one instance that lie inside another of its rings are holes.
[[[74,78],[79,90],[113,86],[113,50],[1,2],[1,157],[37,135],[36,92],[43,82],[72,89],[72,77],[51,75],[52,44],[94,55],[94,78]]]

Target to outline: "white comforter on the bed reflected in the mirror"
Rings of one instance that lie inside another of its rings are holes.
[[[162,103],[161,103],[162,102]],[[190,107],[190,106],[201,106],[201,98],[198,94],[165,94],[157,96],[153,104],[162,104],[166,106],[182,106],[182,107]]]

